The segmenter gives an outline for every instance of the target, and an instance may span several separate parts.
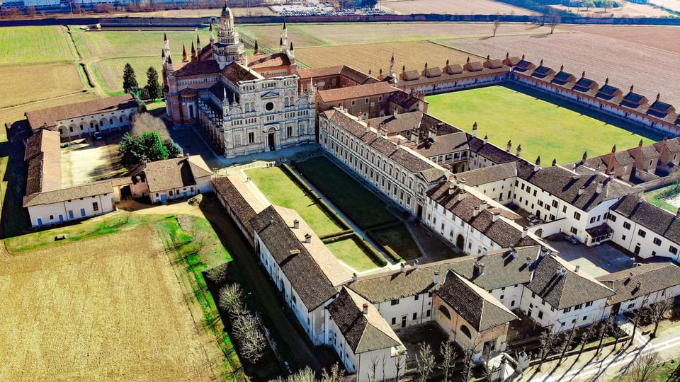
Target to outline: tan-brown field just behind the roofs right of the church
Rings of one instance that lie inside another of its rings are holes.
[[[408,52],[419,52],[409,54]],[[406,70],[425,69],[429,66],[443,66],[446,59],[450,62],[465,62],[467,54],[433,42],[387,42],[385,44],[341,45],[339,47],[312,47],[295,50],[295,57],[312,67],[346,64],[364,73],[372,71],[378,77],[390,74],[390,58],[395,55],[395,70],[401,73],[402,66]]]

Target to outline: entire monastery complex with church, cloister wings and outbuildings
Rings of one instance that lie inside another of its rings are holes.
[[[24,199],[33,226],[109,212],[125,187],[153,202],[215,192],[310,341],[334,349],[357,381],[368,381],[371,359],[387,360],[378,379],[394,375],[406,352],[396,332],[410,325],[436,322],[481,361],[506,350],[509,323],[520,315],[561,332],[680,294],[674,264],[680,212],[642,199],[647,188],[679,178],[680,118],[660,95],[648,100],[632,86],[624,92],[608,79],[600,84],[585,72],[573,75],[509,54],[401,71],[392,57],[389,71],[378,76],[342,65],[297,69],[285,24],[278,52],[263,54],[256,45],[248,55],[226,6],[217,36],[211,25],[208,44],[197,39],[190,56],[175,57],[166,39],[163,93],[172,125],[203,129],[229,159],[317,144],[460,255],[356,274],[297,212],[259,207],[198,156],[149,163],[127,178],[60,187],[50,170],[58,166],[60,141],[127,127],[136,112],[127,96],[72,108],[89,110],[83,116],[27,113],[36,132],[26,150]],[[521,146],[494,146],[477,135],[476,125],[467,133],[427,113],[426,94],[506,82],[668,138],[560,165],[523,158]],[[560,257],[547,240],[556,235],[587,246],[614,243],[640,265],[591,277]]]

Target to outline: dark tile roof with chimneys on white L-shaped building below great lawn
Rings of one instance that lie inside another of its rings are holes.
[[[531,163],[518,161],[517,164],[520,178],[586,212],[606,200],[619,199],[640,191],[637,187],[611,180],[600,171],[584,166],[577,166],[573,172],[562,166],[551,166],[534,171]],[[598,183],[604,185],[600,193],[597,193]],[[584,189],[579,195],[581,187]]]

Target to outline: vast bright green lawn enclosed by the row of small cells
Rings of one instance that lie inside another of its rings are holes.
[[[477,137],[505,149],[512,141],[514,154],[522,145],[521,156],[543,166],[553,158],[557,163],[578,161],[584,151],[589,156],[638,146],[640,135],[609,125],[560,105],[546,102],[504,86],[489,86],[467,91],[429,96],[429,114],[467,132],[478,124]],[[645,144],[652,139],[643,139]]]

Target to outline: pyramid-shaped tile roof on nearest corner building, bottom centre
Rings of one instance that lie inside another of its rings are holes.
[[[327,309],[354,354],[404,346],[373,304],[349,289],[341,289]]]

